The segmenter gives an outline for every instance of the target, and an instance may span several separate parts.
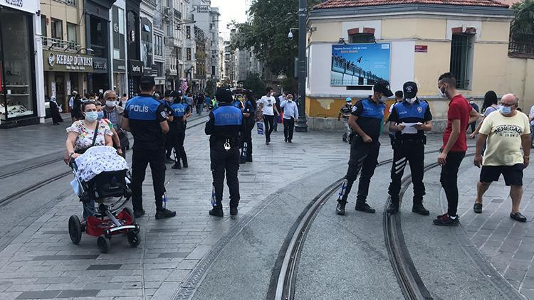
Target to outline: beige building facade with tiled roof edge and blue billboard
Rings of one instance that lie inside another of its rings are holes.
[[[306,109],[311,127],[330,128],[325,122],[333,119],[326,118],[337,116],[342,100],[367,97],[377,77],[389,80],[392,90],[402,90],[407,81],[417,82],[419,96],[428,100],[437,120],[436,130],[446,123],[448,102],[439,97],[436,85],[442,73],[455,73],[460,92],[478,100],[488,90],[498,95],[515,92],[523,98],[532,95],[525,90],[530,88],[525,80],[534,79],[533,64],[508,57],[513,12],[505,4],[493,0],[461,5],[437,0],[344,3],[346,7],[325,1],[308,19]],[[389,54],[377,58],[365,50],[372,47]]]

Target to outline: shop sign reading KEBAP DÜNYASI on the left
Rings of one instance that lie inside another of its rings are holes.
[[[93,57],[43,50],[45,70],[59,72],[93,72]]]

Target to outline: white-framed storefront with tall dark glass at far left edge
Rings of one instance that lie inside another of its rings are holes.
[[[0,4],[0,127],[44,122],[40,14],[38,1]]]

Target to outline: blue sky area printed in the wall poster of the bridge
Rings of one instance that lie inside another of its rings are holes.
[[[332,55],[341,56],[357,67],[389,80],[390,48],[389,43],[332,45]]]

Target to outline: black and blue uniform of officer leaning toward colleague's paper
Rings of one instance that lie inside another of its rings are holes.
[[[369,98],[362,99],[352,107],[351,114],[358,117],[356,123],[360,128],[370,136],[371,143],[365,143],[362,136],[354,136],[350,142],[350,159],[347,175],[342,183],[341,192],[337,202],[342,205],[345,210],[345,203],[347,203],[347,197],[352,190],[352,184],[356,180],[356,177],[360,170],[360,184],[358,186],[356,209],[364,210],[368,213],[374,213],[365,202],[367,200],[367,194],[369,193],[369,184],[371,177],[375,173],[377,166],[378,153],[380,149],[380,143],[378,138],[380,136],[380,125],[384,118],[384,110],[386,105],[384,102],[374,102]],[[339,205],[338,205],[339,206]],[[338,213],[340,210],[338,209]],[[342,214],[342,213],[340,213]]]

